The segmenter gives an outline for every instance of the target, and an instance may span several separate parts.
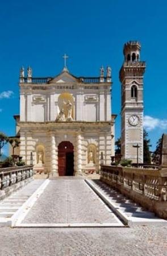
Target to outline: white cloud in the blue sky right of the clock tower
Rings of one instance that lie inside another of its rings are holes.
[[[149,115],[144,116],[144,128],[151,131],[156,128],[167,129],[167,119],[158,119],[150,117]]]

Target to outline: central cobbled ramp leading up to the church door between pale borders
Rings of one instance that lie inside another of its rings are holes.
[[[23,223],[116,223],[84,180],[51,180]]]

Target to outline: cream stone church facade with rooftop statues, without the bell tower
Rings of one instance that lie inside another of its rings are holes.
[[[114,156],[111,68],[99,77],[76,77],[66,63],[55,77],[20,70],[19,154],[37,171],[77,175],[99,171]]]

